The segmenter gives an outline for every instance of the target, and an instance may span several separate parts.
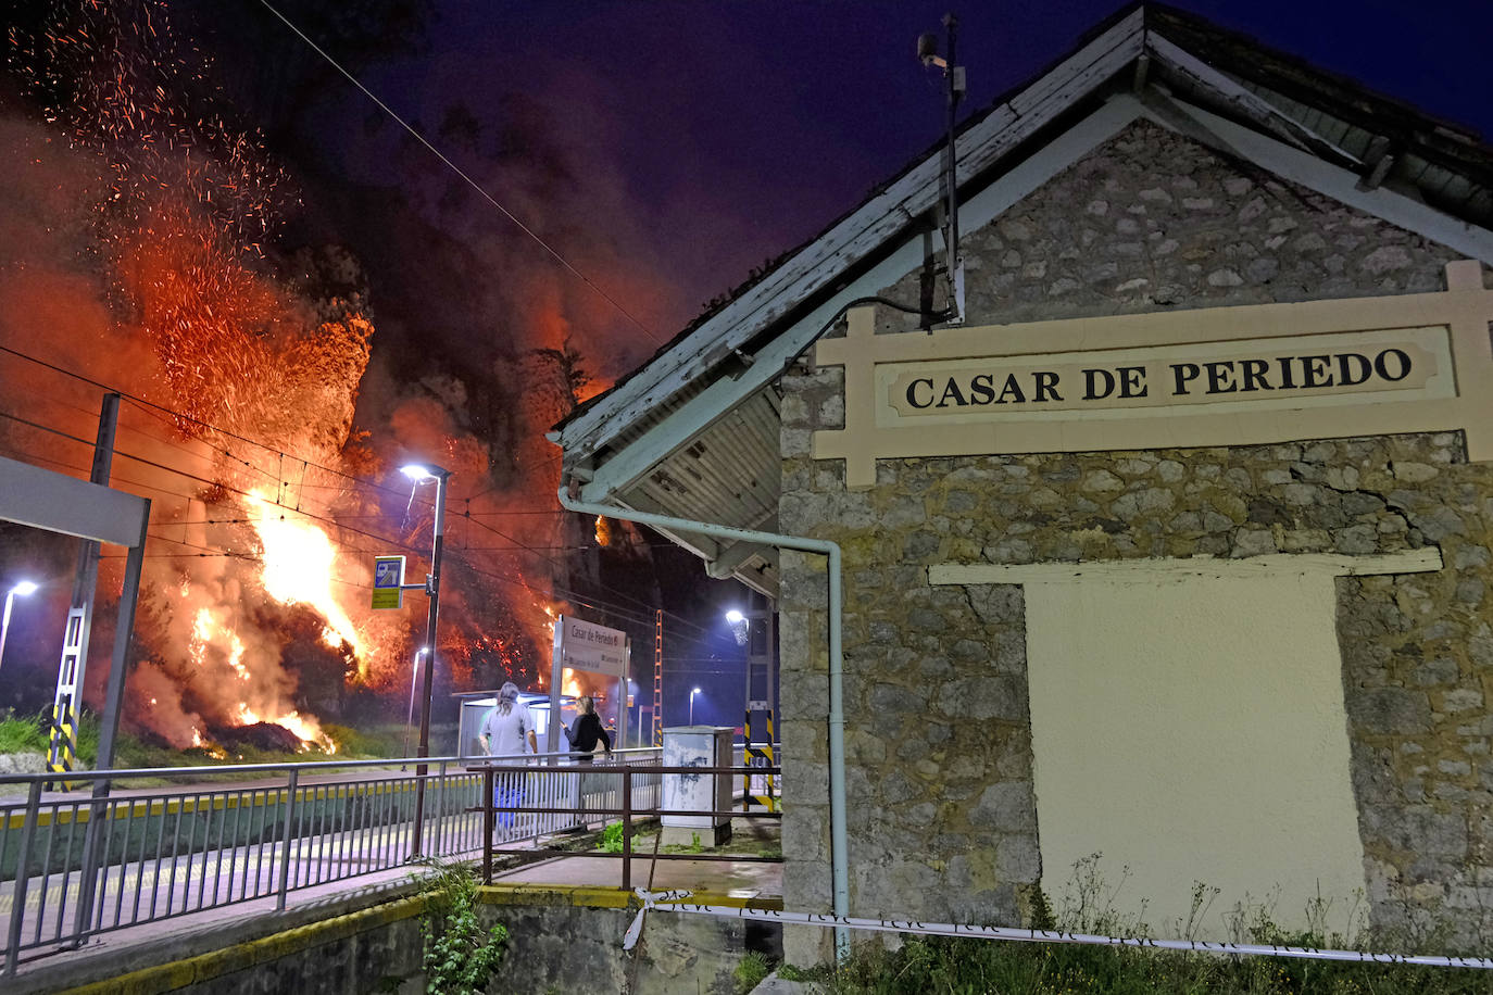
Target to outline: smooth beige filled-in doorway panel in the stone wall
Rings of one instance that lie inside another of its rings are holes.
[[[1348,774],[1332,577],[1114,577],[1027,583],[1042,883],[1103,853],[1120,904],[1172,935],[1193,882],[1223,913],[1274,901],[1333,928],[1365,885]]]

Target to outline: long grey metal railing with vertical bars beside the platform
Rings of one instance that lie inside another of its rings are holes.
[[[467,770],[478,761],[524,764],[515,770],[527,806],[503,826],[511,849],[605,823],[623,801],[615,774],[603,771],[621,764],[635,810],[657,807],[663,768],[646,765],[660,750],[615,756],[596,765],[569,753],[426,759],[424,859],[475,859],[491,843],[484,807],[493,788]],[[63,783],[57,774],[0,776],[4,974],[99,934],[249,901],[282,910],[297,889],[411,864],[417,762],[75,771],[70,791],[51,791]],[[146,779],[166,783],[130,786]],[[99,782],[110,785],[103,798],[91,797]]]

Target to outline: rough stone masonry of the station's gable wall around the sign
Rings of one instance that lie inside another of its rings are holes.
[[[1459,258],[1148,124],[966,251],[972,325],[1444,289]],[[917,300],[917,276],[884,294]],[[853,492],[809,455],[815,430],[844,427],[842,371],[782,389],[781,527],[845,550],[851,914],[1012,923],[1030,885],[1067,871],[1038,852],[1021,589],[935,588],[929,564],[1436,544],[1441,573],[1338,582],[1369,910],[1493,938],[1493,468],[1460,434],[882,459]],[[830,905],[824,570],[784,553],[784,889],[802,910]],[[824,950],[820,934],[785,944],[790,961]]]

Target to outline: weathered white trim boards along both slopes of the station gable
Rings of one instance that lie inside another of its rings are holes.
[[[1162,94],[1156,88],[1147,91],[1145,103],[1130,94],[1118,94],[1099,112],[1057,136],[1030,160],[963,203],[960,224],[966,231],[988,224],[1127,124],[1147,118],[1254,161],[1282,179],[1493,264],[1493,231],[1466,224],[1384,188],[1360,189],[1359,176],[1353,170],[1318,158],[1326,154],[1338,161],[1357,163],[1356,157],[1288,119],[1266,100],[1160,34],[1142,31],[1142,12],[1138,9],[972,125],[960,137],[960,182],[996,163],[1017,143],[1090,94],[1103,79],[1120,72],[1142,51],[1154,51],[1156,57],[1171,69],[1211,88],[1236,106],[1241,115],[1256,122],[1256,127],[1272,130],[1274,136],[1235,124],[1178,97]],[[741,348],[806,297],[841,279],[848,266],[870,254],[885,252],[887,240],[903,231],[911,218],[930,210],[938,197],[939,155],[933,154],[566,425],[558,433],[557,442],[564,448],[567,462],[585,459],[597,448],[614,442],[620,433],[648,418],[657,404],[699,377],[708,376],[730,351]],[[938,234],[933,237],[936,240]],[[584,483],[582,500],[612,501],[621,506],[638,500],[639,495],[629,495],[627,491],[639,479],[688,445],[724,413],[775,380],[793,357],[821,334],[845,304],[857,297],[878,292],[921,266],[923,240],[924,236],[920,233],[897,245],[879,264],[857,280],[841,286],[832,298],[773,336],[738,377],[711,380],[660,424],[609,453],[605,462],[588,468],[594,476]],[[697,552],[705,555],[703,550]]]

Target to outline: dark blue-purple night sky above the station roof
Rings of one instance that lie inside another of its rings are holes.
[[[294,6],[285,0],[282,7],[293,19]],[[1062,58],[1121,6],[1065,0],[957,10],[969,73],[963,115]],[[1179,6],[1493,133],[1484,51],[1493,4]],[[588,274],[667,339],[752,266],[812,237],[938,140],[939,79],[912,51],[921,31],[941,30],[945,12],[938,3],[879,0],[445,1],[434,4],[424,52],[370,66],[363,76],[423,122],[460,100],[487,136],[512,122],[515,97],[537,107],[524,127],[545,133],[564,182],[543,203],[502,186],[490,191],[546,237],[563,233],[555,248],[567,257],[584,261],[588,240],[615,246],[627,264],[597,261],[599,271]],[[402,161],[388,154],[397,139],[391,130],[369,134],[369,113],[366,97],[328,87],[312,115],[317,127],[302,137],[351,178],[402,182],[390,172]],[[458,152],[469,152],[454,154],[463,166],[482,172],[481,142]],[[491,209],[476,209],[472,224],[493,237],[521,237]],[[537,246],[529,251],[542,258]],[[602,327],[578,333],[605,334],[611,348],[597,348],[608,354],[608,371],[620,373],[655,343],[608,310],[585,309]]]

